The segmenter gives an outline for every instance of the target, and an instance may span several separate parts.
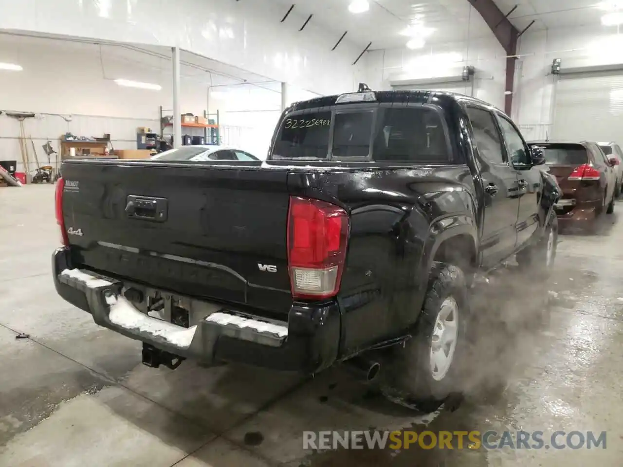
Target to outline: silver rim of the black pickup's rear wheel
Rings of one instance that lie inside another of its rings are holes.
[[[441,304],[430,342],[430,370],[433,379],[444,379],[452,366],[459,336],[459,305],[452,297]]]

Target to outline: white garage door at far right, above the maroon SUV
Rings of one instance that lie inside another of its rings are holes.
[[[623,73],[561,75],[552,139],[623,143]]]

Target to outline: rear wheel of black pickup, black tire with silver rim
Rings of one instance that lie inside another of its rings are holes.
[[[435,262],[413,337],[392,349],[383,392],[407,407],[432,412],[460,391],[458,357],[468,316],[467,286],[459,267]],[[388,359],[388,360],[389,360]]]

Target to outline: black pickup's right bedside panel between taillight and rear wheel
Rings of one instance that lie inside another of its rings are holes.
[[[288,185],[292,194],[325,199],[350,213],[338,296],[343,356],[396,337],[416,322],[430,264],[444,238],[468,233],[477,241],[475,189],[465,165],[290,174]]]

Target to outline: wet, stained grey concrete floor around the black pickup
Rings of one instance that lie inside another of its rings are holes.
[[[54,188],[0,188],[0,466],[601,466],[623,455],[623,222],[564,235],[550,283],[482,284],[462,403],[386,402],[339,370],[141,365],[55,293]],[[623,212],[623,204],[617,205]],[[16,339],[17,333],[29,338]],[[607,431],[607,449],[304,451],[303,430]]]

